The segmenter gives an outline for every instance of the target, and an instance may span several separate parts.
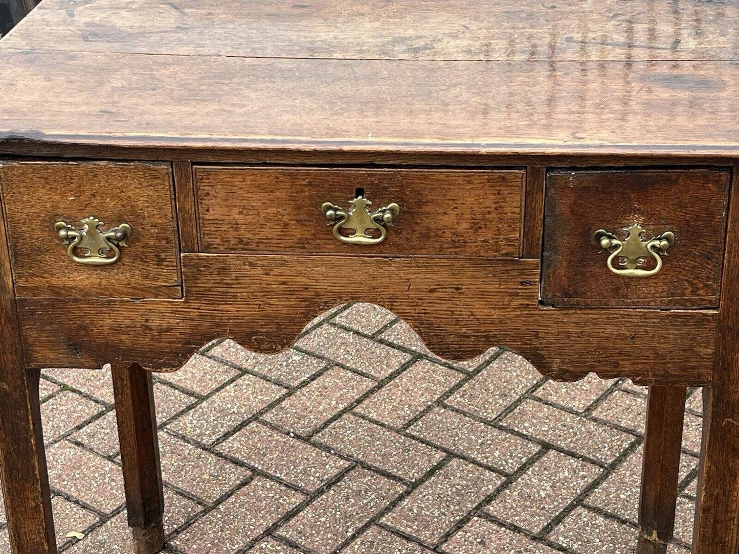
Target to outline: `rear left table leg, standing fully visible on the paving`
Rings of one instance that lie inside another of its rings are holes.
[[[154,554],[164,545],[164,497],[151,373],[136,363],[113,363],[112,370],[134,550],[136,554]]]

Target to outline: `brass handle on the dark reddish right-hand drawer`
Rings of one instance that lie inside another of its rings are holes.
[[[608,269],[616,275],[627,277],[649,277],[659,273],[662,269],[660,256],[665,256],[667,248],[675,242],[675,233],[665,231],[652,239],[644,240],[641,235],[644,234],[645,229],[638,223],[624,228],[624,231],[627,232],[626,239],[620,241],[616,239],[616,235],[607,230],[596,230],[594,236],[596,243],[603,250],[610,252],[606,262]],[[652,256],[657,261],[657,265],[651,270],[643,270],[640,266],[644,264],[644,259],[648,256]],[[621,267],[613,267],[613,260],[617,257],[625,259],[625,261],[618,262]]]

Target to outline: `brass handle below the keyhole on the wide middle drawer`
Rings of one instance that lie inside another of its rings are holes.
[[[341,242],[349,244],[379,244],[385,240],[387,230],[385,225],[392,227],[392,222],[401,213],[401,207],[395,202],[370,212],[367,206],[372,205],[364,197],[364,189],[358,188],[355,198],[349,203],[352,207],[344,210],[332,202],[324,202],[321,206],[328,224],[333,225],[333,236]],[[342,234],[341,230],[348,231]],[[373,236],[368,231],[379,230],[380,236]]]

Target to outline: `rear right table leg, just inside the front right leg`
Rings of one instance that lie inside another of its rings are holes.
[[[641,471],[637,554],[665,554],[675,530],[684,386],[650,386]]]

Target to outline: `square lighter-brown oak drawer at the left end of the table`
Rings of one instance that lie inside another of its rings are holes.
[[[18,296],[181,298],[169,164],[8,161],[0,185]]]

